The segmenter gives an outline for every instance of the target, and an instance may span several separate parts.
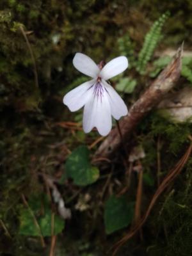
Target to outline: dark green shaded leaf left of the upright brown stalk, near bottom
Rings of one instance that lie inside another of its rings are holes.
[[[134,203],[127,202],[124,195],[120,197],[111,195],[104,206],[106,234],[127,227],[132,221],[133,212]]]

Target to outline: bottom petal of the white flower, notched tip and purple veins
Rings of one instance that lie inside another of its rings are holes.
[[[108,135],[111,131],[111,109],[105,90],[102,93],[102,98],[92,94],[92,98],[84,106],[83,130],[84,132],[90,132],[93,127],[96,127],[102,136]]]

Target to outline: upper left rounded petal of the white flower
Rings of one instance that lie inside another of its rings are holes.
[[[100,72],[95,62],[90,57],[80,52],[77,52],[74,56],[73,64],[77,70],[86,76],[95,78]]]

